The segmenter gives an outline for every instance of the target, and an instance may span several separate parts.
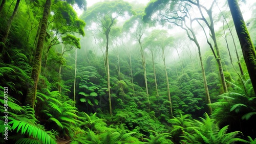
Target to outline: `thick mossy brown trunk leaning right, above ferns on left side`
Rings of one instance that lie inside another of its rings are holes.
[[[25,105],[30,105],[32,106],[33,109],[35,108],[34,106],[35,106],[35,100],[36,100],[36,89],[37,89],[37,83],[39,80],[39,74],[41,69],[42,51],[44,49],[44,40],[46,37],[46,30],[47,30],[48,17],[50,14],[51,4],[52,4],[51,0],[46,0],[44,14],[42,16],[41,28],[40,28],[39,37],[38,37],[37,46],[36,46],[35,58],[32,66],[31,78],[30,78],[31,81],[33,81],[33,83],[30,83],[27,97],[25,100]]]

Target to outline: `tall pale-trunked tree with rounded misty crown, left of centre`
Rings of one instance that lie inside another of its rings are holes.
[[[110,32],[112,27],[116,24],[117,19],[125,17],[126,14],[131,15],[133,13],[132,7],[129,3],[123,1],[110,1],[96,3],[90,7],[86,13],[81,16],[82,19],[87,20],[89,25],[95,23],[96,28],[100,33],[105,36],[105,66],[107,70],[108,79],[108,95],[109,95],[109,107],[110,115],[112,116],[111,106],[111,89],[110,89],[110,67],[109,67],[109,42]],[[92,26],[92,25],[91,25]]]

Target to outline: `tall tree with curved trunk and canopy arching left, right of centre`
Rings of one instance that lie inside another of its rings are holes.
[[[207,100],[207,104],[210,104],[211,101],[210,101],[210,95],[209,95],[209,90],[207,86],[205,70],[204,70],[204,65],[203,65],[203,60],[201,55],[201,47],[199,45],[196,33],[194,32],[192,27],[193,19],[190,17],[188,13],[188,9],[186,7],[180,7],[180,6],[183,6],[183,4],[180,5],[178,2],[173,2],[173,3],[167,3],[167,2],[169,1],[167,0],[156,1],[148,4],[148,6],[145,8],[145,15],[143,16],[143,20],[144,21],[150,21],[150,20],[160,21],[163,25],[166,22],[173,23],[174,25],[185,30],[188,38],[191,41],[193,41],[198,48],[198,54],[199,54],[199,59],[200,59],[200,64],[201,64],[202,74],[203,74],[206,100]],[[160,12],[160,15],[158,15],[158,17],[153,17],[153,14],[157,12]],[[189,25],[187,23],[189,23]],[[209,108],[209,113],[211,113],[212,112],[211,107],[208,106],[208,108]]]

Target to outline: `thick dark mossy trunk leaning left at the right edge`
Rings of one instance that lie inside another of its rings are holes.
[[[234,27],[236,28],[237,35],[242,48],[244,60],[247,70],[251,79],[254,93],[256,93],[256,52],[251,41],[249,32],[245,25],[243,15],[237,0],[228,0],[229,9],[233,17]]]

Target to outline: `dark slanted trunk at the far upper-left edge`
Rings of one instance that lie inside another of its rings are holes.
[[[5,49],[5,44],[6,44],[6,41],[7,41],[7,38],[8,38],[8,35],[9,35],[9,32],[11,30],[11,26],[12,26],[12,20],[13,18],[15,17],[17,11],[18,11],[18,6],[19,6],[19,2],[20,0],[17,0],[16,2],[16,5],[15,5],[15,8],[12,12],[12,15],[11,17],[9,18],[9,20],[7,21],[7,26],[5,28],[5,31],[4,31],[4,34],[3,34],[3,38],[2,38],[2,44],[0,44],[0,50],[1,50],[1,53],[4,52],[4,49]],[[2,2],[3,3],[3,2]],[[2,4],[1,4],[2,5]]]

